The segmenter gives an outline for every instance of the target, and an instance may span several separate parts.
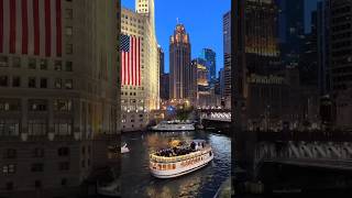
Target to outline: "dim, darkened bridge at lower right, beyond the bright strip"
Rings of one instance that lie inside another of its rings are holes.
[[[253,179],[265,163],[352,172],[352,133],[349,132],[249,132],[242,162]],[[245,158],[246,157],[246,158]]]

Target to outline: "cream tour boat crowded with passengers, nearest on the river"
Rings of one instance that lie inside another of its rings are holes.
[[[150,169],[157,178],[178,177],[206,166],[213,158],[211,146],[202,140],[174,143],[170,148],[150,155]]]

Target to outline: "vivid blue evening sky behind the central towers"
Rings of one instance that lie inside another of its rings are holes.
[[[122,0],[121,3],[134,10],[134,0]],[[198,57],[202,48],[211,48],[217,53],[217,70],[223,67],[222,15],[230,11],[231,0],[155,0],[154,3],[156,37],[165,53],[166,73],[169,70],[169,36],[177,18],[189,34],[191,57]]]

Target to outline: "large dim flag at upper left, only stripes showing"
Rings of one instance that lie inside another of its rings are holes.
[[[62,56],[63,0],[0,0],[0,53]]]

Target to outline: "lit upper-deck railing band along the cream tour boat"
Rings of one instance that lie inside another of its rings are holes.
[[[155,154],[151,154],[150,160],[153,162],[156,162],[156,163],[176,163],[176,162],[182,162],[182,161],[186,161],[189,158],[194,158],[194,157],[204,155],[205,153],[207,153],[209,151],[211,151],[211,147],[206,146],[205,148],[202,148],[200,151],[197,151],[197,152],[194,152],[194,153],[190,153],[187,155],[179,155],[179,156],[167,157],[167,156],[157,156]]]

